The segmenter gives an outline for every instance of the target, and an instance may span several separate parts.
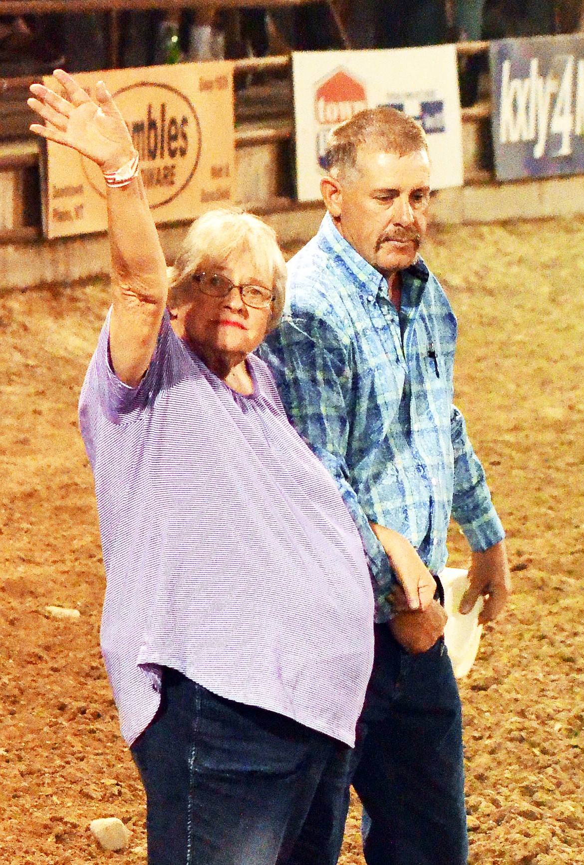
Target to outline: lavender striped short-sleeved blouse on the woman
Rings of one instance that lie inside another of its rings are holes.
[[[360,536],[266,365],[228,388],[167,315],[138,388],[108,362],[80,396],[106,567],[101,648],[125,740],[156,713],[161,665],[349,745],[373,654]]]

